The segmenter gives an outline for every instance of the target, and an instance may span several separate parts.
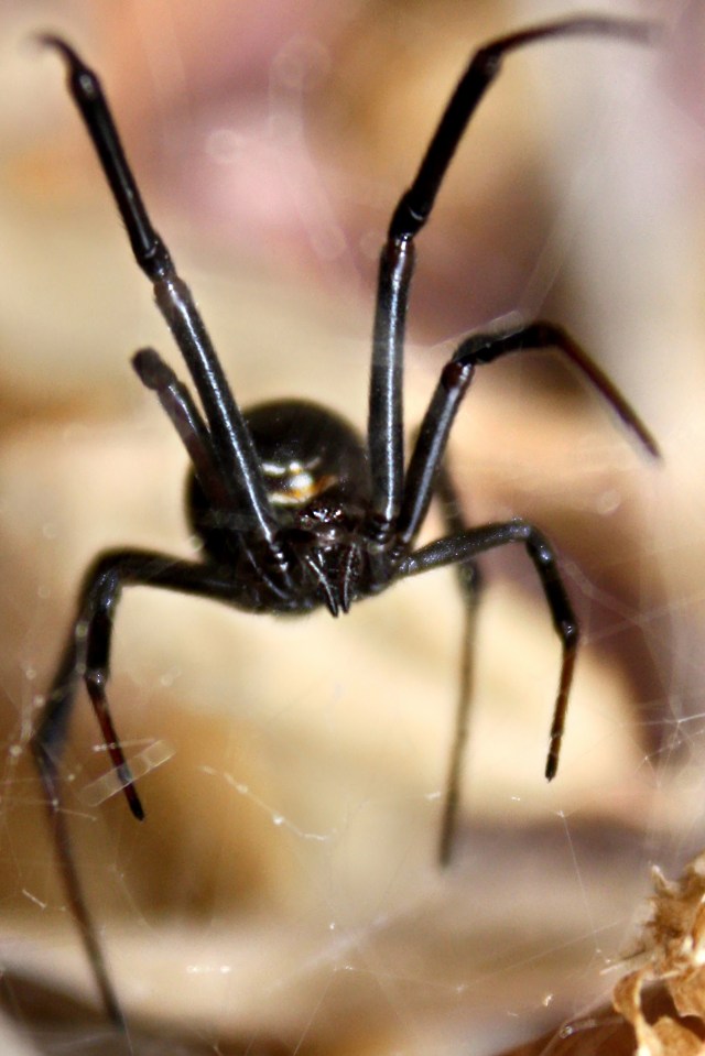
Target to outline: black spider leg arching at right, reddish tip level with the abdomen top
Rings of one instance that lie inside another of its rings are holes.
[[[566,331],[552,323],[473,334],[455,351],[441,371],[441,379],[424,415],[409,462],[397,527],[401,540],[410,543],[429,510],[435,475],[443,459],[448,435],[475,368],[494,362],[511,352],[555,349],[597,389],[620,421],[630,428],[653,457],[659,457],[655,439],[609,378]]]

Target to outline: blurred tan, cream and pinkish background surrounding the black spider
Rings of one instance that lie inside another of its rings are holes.
[[[153,344],[185,369],[61,63],[32,34],[61,32],[100,73],[240,403],[304,396],[364,427],[379,248],[469,54],[587,8],[4,0],[4,1052],[126,1050],[26,745],[95,554],[194,553],[185,457],[129,358]],[[63,775],[135,1053],[498,1053],[608,999],[650,864],[677,872],[703,847],[705,14],[695,0],[589,10],[663,22],[663,41],[507,61],[419,238],[405,387],[411,432],[468,330],[547,317],[661,445],[649,460],[549,353],[479,371],[458,415],[467,516],[535,522],[582,621],[558,776],[543,779],[560,650],[520,551],[482,562],[446,871],[451,575],[338,621],[127,591],[110,699],[129,758],[161,761],[141,781],[145,823],[101,802],[109,766],[83,694]],[[432,519],[429,537],[441,530]]]

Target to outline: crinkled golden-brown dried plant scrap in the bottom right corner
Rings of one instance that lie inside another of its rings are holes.
[[[653,870],[652,912],[636,957],[642,965],[615,988],[615,1009],[634,1028],[639,1056],[704,1054],[698,1030],[705,1024],[705,853],[695,858],[677,881]],[[646,982],[663,982],[677,1016],[694,1016],[685,1025],[673,1015],[654,1024],[641,1008]]]

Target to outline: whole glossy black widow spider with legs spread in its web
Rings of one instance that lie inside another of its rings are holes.
[[[122,1014],[72,857],[58,764],[83,679],[130,809],[143,818],[106,696],[112,623],[123,586],[180,590],[251,612],[294,614],[323,605],[337,616],[399,579],[455,565],[467,643],[476,605],[476,556],[507,543],[522,543],[539,575],[563,651],[545,767],[546,777],[554,776],[578,642],[577,621],[551,545],[536,527],[521,520],[466,525],[444,467],[451,426],[478,366],[510,352],[555,348],[585,374],[652,455],[658,454],[657,445],[609,379],[563,329],[531,323],[474,334],[460,344],[441,372],[404,469],[402,367],[414,239],[429,218],[466,126],[507,53],[547,37],[584,34],[646,42],[652,30],[646,22],[575,18],[500,37],[474,55],[411,187],[394,209],[382,248],[367,444],[343,418],[313,403],[284,400],[240,411],[192,294],[152,227],[98,78],[65,41],[41,37],[66,63],[69,91],[100,159],[134,258],[152,282],[156,304],[203,407],[202,413],[153,349],[134,356],[138,377],[156,393],[191,459],[187,510],[203,540],[203,556],[185,562],[160,553],[118,549],[96,559],[85,577],[78,614],[32,738],[68,900],[115,1023],[123,1025]],[[414,549],[434,497],[444,512],[447,534]],[[444,863],[451,852],[467,727],[468,652],[466,644],[441,829]]]

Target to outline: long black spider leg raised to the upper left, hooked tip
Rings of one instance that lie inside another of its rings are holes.
[[[46,34],[40,41],[58,51],[66,63],[68,89],[102,165],[127,228],[134,259],[152,283],[156,304],[196,385],[213,436],[213,450],[223,477],[221,487],[229,492],[230,504],[247,511],[251,529],[269,546],[272,558],[284,575],[285,558],[275,540],[276,520],[250,432],[193,295],[152,226],[100,81],[61,37]]]

